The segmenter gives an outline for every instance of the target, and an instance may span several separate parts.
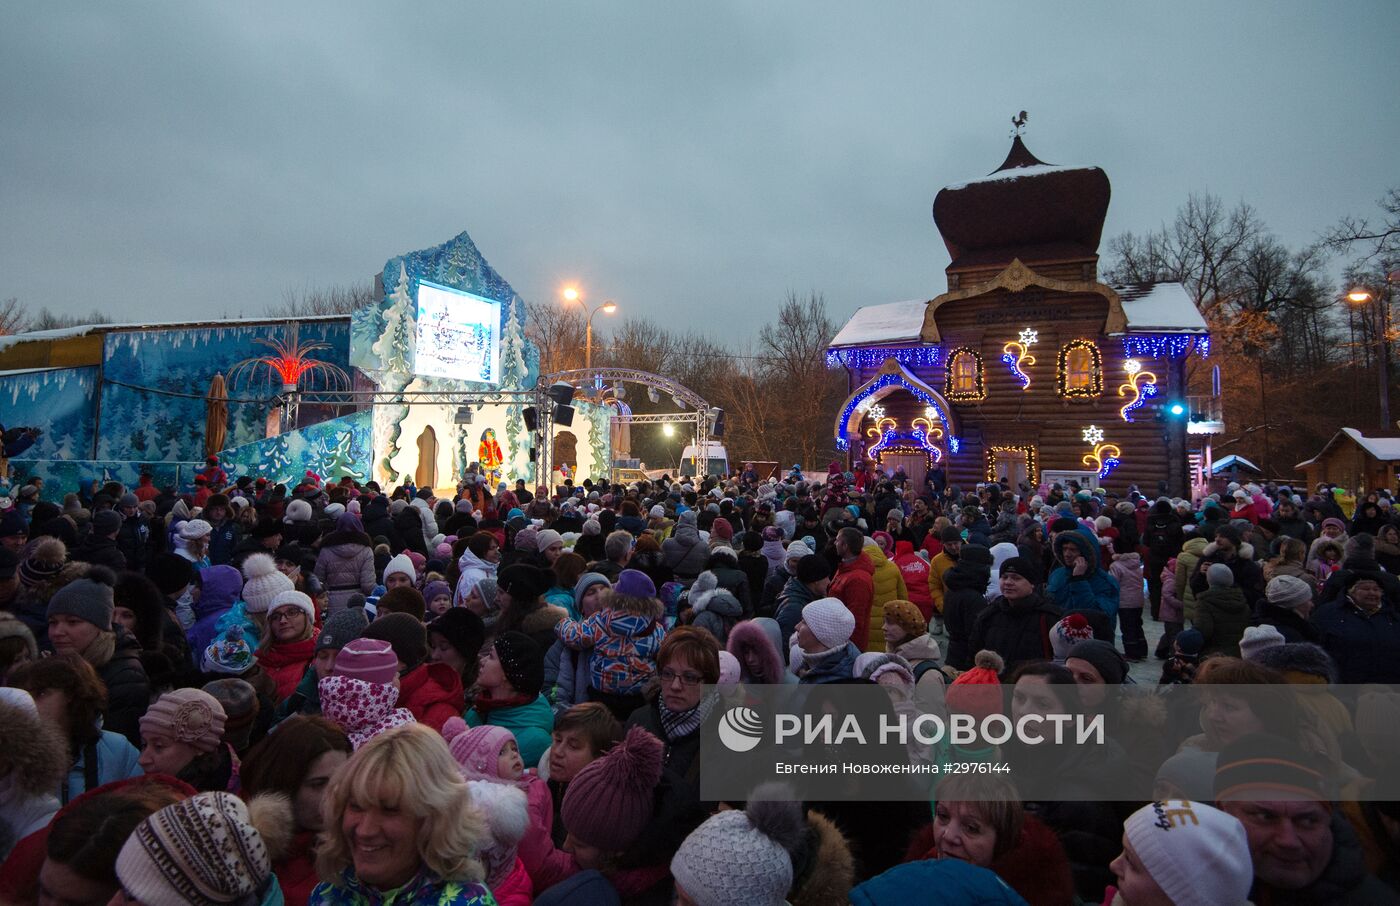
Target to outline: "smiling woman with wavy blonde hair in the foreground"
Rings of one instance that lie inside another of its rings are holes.
[[[308,903],[493,903],[476,853],[486,823],[442,737],[406,724],[364,744],[336,772],[322,804],[322,882]]]

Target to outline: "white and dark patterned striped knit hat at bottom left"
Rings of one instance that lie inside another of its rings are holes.
[[[242,800],[200,793],[139,823],[116,857],[116,877],[147,906],[259,902],[272,858]]]

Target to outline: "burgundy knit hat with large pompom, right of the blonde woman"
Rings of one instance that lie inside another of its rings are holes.
[[[564,791],[560,816],[585,846],[620,853],[651,821],[664,762],[661,739],[633,727],[608,755],[578,772]]]

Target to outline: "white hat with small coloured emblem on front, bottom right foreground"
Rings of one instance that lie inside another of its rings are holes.
[[[1123,836],[1176,906],[1242,906],[1254,865],[1239,819],[1190,800],[1152,802],[1123,822]]]

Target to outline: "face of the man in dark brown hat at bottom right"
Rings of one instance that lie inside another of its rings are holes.
[[[1245,825],[1254,877],[1298,891],[1322,877],[1331,861],[1331,812],[1322,802],[1222,802]]]

